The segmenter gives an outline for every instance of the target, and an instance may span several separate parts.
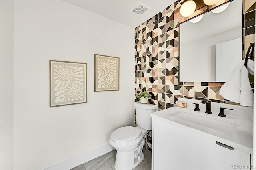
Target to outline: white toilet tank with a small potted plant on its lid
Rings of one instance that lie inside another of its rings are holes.
[[[158,105],[142,104],[139,101],[135,102],[136,121],[138,127],[145,130],[152,130],[152,117],[150,113],[158,111]]]

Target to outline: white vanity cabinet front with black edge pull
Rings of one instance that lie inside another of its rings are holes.
[[[250,154],[216,144],[216,136],[156,118],[152,123],[154,170],[250,169]]]

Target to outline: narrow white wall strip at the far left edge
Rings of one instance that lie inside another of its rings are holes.
[[[0,169],[13,169],[13,2],[0,1]]]

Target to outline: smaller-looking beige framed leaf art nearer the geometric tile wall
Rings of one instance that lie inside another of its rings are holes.
[[[119,58],[94,54],[94,91],[119,90]]]

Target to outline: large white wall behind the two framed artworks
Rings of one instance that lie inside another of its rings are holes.
[[[44,169],[134,123],[134,28],[63,1],[14,2],[14,169]],[[94,54],[120,57],[120,90],[94,92]],[[49,107],[49,60],[88,65],[88,103]]]

